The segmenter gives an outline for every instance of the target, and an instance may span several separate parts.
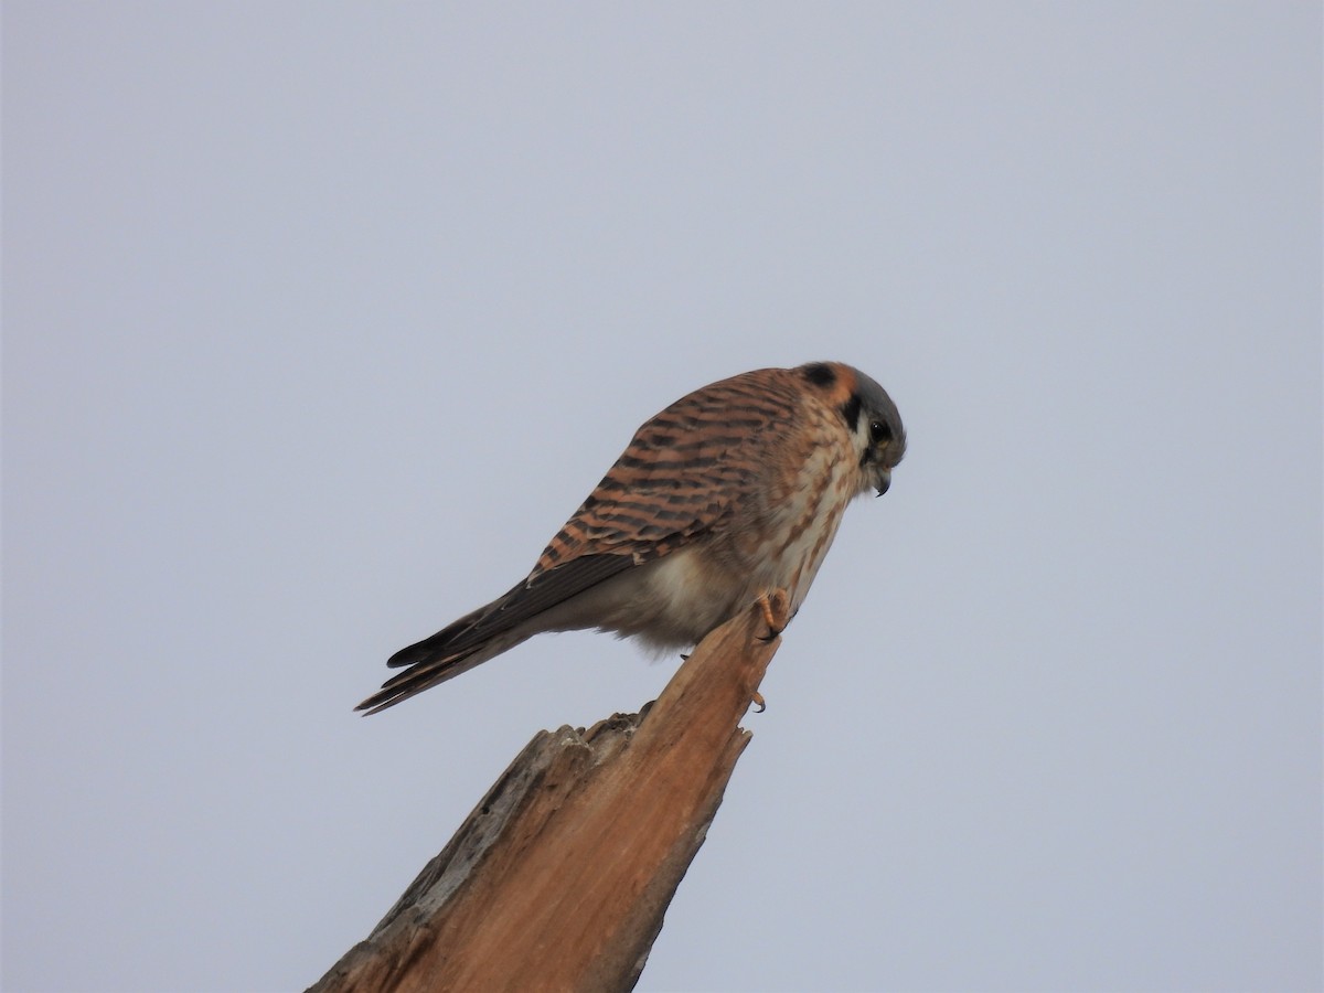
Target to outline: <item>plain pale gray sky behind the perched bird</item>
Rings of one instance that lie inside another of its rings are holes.
[[[643,990],[1317,990],[1311,3],[4,9],[4,988],[282,990],[539,730],[388,714],[682,393],[911,450]]]

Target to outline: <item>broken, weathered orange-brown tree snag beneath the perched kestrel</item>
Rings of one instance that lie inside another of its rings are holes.
[[[641,714],[539,732],[310,993],[632,989],[749,741],[767,634],[756,604]]]

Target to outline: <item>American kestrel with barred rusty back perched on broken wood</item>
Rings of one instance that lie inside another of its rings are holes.
[[[392,655],[405,671],[355,710],[392,707],[543,632],[682,649],[776,589],[793,616],[846,504],[882,496],[904,454],[896,405],[850,365],[698,389],[636,432],[526,579]]]

